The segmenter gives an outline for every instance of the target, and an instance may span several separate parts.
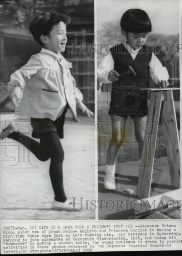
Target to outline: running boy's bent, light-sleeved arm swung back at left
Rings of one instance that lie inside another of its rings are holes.
[[[22,92],[26,82],[42,68],[42,63],[37,55],[32,55],[30,60],[10,75],[8,86],[12,90],[12,100],[15,106],[20,104]]]

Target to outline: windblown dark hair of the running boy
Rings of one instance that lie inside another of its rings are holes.
[[[43,46],[40,36],[48,36],[54,25],[63,21],[66,25],[70,24],[71,18],[58,12],[42,12],[38,14],[30,23],[29,30],[34,40]]]

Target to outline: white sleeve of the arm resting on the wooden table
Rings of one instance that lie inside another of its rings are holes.
[[[160,60],[152,53],[152,58],[149,63],[150,75],[152,80],[158,84],[159,81],[169,79],[168,70],[163,67]]]

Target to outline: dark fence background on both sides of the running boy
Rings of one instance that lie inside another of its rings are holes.
[[[94,54],[86,49],[94,42],[94,33],[83,30],[67,34],[68,44],[63,55],[73,64],[72,75],[84,95],[84,103],[94,111]],[[23,66],[40,49],[41,46],[30,35],[0,32],[1,81],[9,81],[10,74]],[[3,102],[1,95],[0,104]]]

